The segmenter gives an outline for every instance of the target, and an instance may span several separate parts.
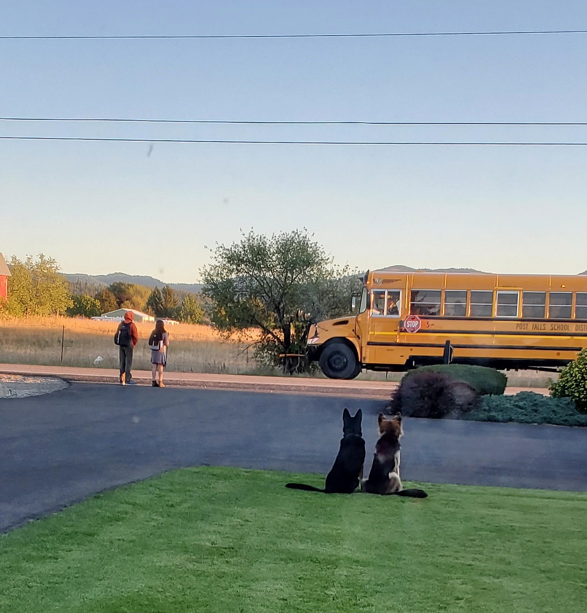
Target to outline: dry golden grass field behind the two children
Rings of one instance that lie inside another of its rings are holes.
[[[118,368],[118,348],[114,332],[118,322],[93,321],[67,317],[0,319],[0,363],[38,364],[77,367]],[[153,324],[137,324],[138,345],[133,367],[150,370],[150,349],[147,339]],[[252,357],[254,334],[249,341],[224,340],[210,326],[176,324],[169,326],[169,360],[167,370],[195,373],[227,373],[232,375],[281,375],[281,370],[260,371]],[[61,338],[63,360],[61,361]],[[94,365],[96,357],[103,361]],[[506,371],[508,385],[517,387],[548,387],[556,373]],[[314,376],[322,377],[322,373]],[[365,371],[358,379],[400,381],[402,373]]]

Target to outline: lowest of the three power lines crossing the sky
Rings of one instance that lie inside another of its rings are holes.
[[[587,142],[459,142],[420,140],[211,140],[211,139],[119,139],[77,136],[0,136],[0,140],[77,140],[116,143],[225,143],[232,145],[475,145],[501,147],[585,147]]]

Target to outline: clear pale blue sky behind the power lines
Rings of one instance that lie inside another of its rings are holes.
[[[21,0],[0,36],[587,29],[587,2]],[[586,121],[587,34],[0,40],[0,116]],[[587,128],[0,121],[0,135],[573,140]],[[0,140],[0,251],[64,272],[199,280],[204,246],[306,227],[360,269],[587,268],[587,147]]]

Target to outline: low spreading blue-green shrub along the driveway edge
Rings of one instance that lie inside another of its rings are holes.
[[[463,419],[518,424],[587,426],[587,415],[577,411],[570,398],[552,398],[534,392],[513,396],[484,396]]]

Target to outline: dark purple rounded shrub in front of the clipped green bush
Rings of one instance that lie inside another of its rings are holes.
[[[463,381],[444,373],[414,371],[401,380],[389,404],[390,413],[408,417],[439,419],[450,413],[471,411],[479,403],[479,394]]]

